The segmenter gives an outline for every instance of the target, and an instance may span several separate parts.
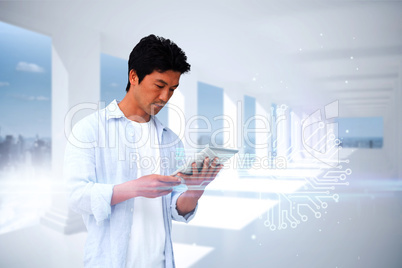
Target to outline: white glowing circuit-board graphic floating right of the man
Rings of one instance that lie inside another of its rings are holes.
[[[276,115],[274,120],[278,120],[278,115],[286,114],[286,109],[286,105],[278,106],[273,111]],[[309,168],[316,172],[297,178],[304,181],[304,186],[297,191],[291,194],[275,194],[274,199],[278,201],[278,205],[268,210],[263,217],[264,225],[270,230],[296,228],[309,217],[321,218],[329,202],[339,202],[337,189],[349,185],[347,178],[352,174],[352,170],[347,167],[349,159],[339,157],[342,146],[337,138],[337,123],[334,120],[338,114],[338,102],[335,101],[326,105],[323,113],[317,110],[300,120],[300,124],[293,126],[300,129],[303,146],[299,146],[301,149],[298,150],[289,146],[286,150],[287,161],[296,166],[298,161],[307,162]],[[273,151],[281,146],[281,142],[283,139],[281,141],[273,136]]]

